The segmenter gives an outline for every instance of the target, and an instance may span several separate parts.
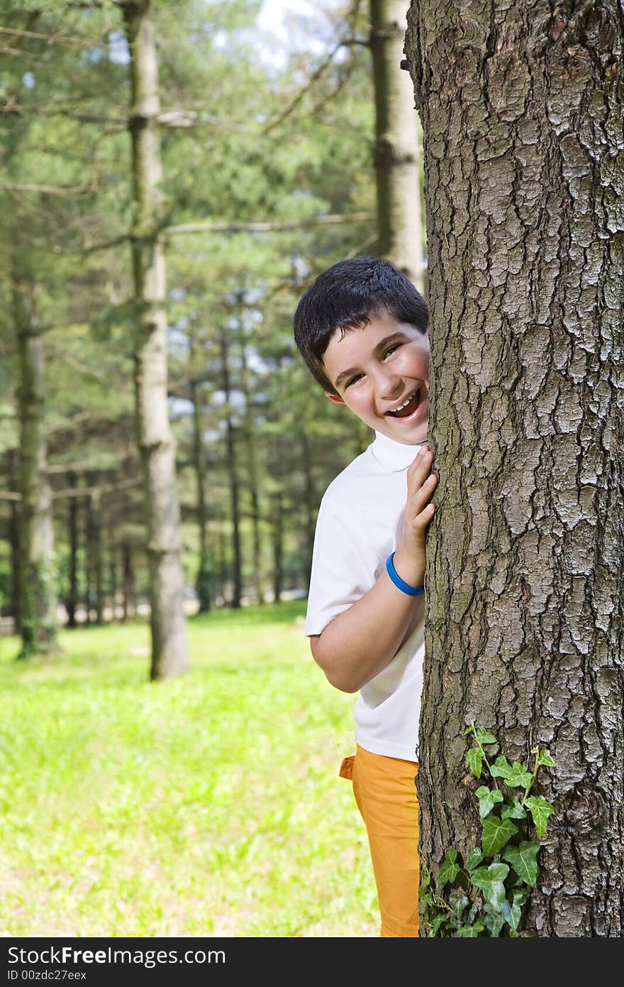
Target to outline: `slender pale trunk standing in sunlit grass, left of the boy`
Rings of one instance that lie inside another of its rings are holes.
[[[132,260],[140,312],[135,347],[138,445],[145,478],[150,568],[150,677],[165,679],[189,667],[183,611],[179,505],[175,447],[167,404],[167,314],[163,223],[163,169],[158,116],[156,38],[149,0],[123,3],[130,49]]]

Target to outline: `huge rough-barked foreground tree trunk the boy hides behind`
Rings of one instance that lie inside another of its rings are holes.
[[[624,22],[615,0],[412,3],[440,475],[420,851],[479,831],[464,729],[550,748],[523,935],[621,936]],[[528,763],[528,762],[526,762]]]

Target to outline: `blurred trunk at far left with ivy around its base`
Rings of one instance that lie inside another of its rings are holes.
[[[33,286],[16,261],[13,317],[18,341],[20,382],[21,636],[20,657],[56,646],[56,573],[52,498],[47,480],[45,359],[43,339],[33,312]]]

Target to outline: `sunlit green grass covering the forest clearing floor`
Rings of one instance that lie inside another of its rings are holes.
[[[0,935],[378,936],[351,784],[354,697],[305,603],[188,622],[192,670],[149,681],[144,624],[0,640]]]

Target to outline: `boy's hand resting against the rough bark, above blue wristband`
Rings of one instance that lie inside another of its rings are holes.
[[[423,446],[407,471],[403,537],[394,555],[394,568],[411,586],[422,586],[425,579],[427,528],[436,509],[430,500],[438,486],[438,477],[431,472],[433,463],[433,453]]]

